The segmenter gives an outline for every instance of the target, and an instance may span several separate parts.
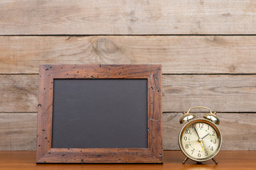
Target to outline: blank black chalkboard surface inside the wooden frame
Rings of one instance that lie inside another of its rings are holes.
[[[147,148],[146,79],[54,79],[53,148]]]

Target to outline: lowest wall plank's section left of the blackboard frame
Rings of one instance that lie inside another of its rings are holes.
[[[0,150],[36,149],[36,115],[0,113]]]

